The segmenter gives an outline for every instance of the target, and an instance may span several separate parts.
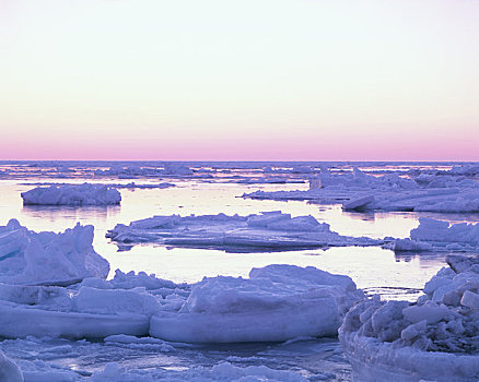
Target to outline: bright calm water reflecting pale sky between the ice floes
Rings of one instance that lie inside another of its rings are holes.
[[[105,238],[116,224],[153,215],[171,214],[241,214],[280,210],[294,216],[311,214],[326,222],[331,229],[349,236],[408,237],[410,229],[418,226],[414,213],[346,213],[339,205],[316,205],[306,202],[258,201],[240,198],[244,192],[257,189],[296,190],[307,184],[260,184],[175,181],[170,189],[121,189],[121,206],[108,207],[55,207],[23,206],[20,193],[35,186],[36,181],[59,181],[58,179],[0,180],[0,224],[17,218],[33,230],[60,231],[80,222],[95,227],[95,250],[116,268],[124,272],[145,271],[159,277],[175,282],[197,282],[203,276],[218,274],[246,276],[252,267],[272,263],[313,265],[328,272],[351,276],[359,287],[384,294],[387,298],[412,298],[411,289],[422,288],[444,263],[444,254],[395,254],[381,248],[330,248],[327,250],[303,250],[272,253],[226,253],[218,250],[199,250],[151,244],[137,246],[130,251],[117,251],[117,247]],[[61,180],[61,181],[65,181]],[[70,181],[70,180],[69,180]],[[91,181],[74,179],[72,182]],[[112,182],[119,182],[112,180]],[[151,180],[136,180],[138,183]],[[103,180],[105,182],[105,180]],[[121,181],[120,181],[121,182]],[[129,182],[129,180],[124,181]],[[435,215],[437,216],[437,215]],[[448,219],[465,219],[464,216],[442,216]],[[475,220],[469,216],[466,220]],[[398,288],[398,289],[392,289]],[[413,290],[412,290],[413,291]]]

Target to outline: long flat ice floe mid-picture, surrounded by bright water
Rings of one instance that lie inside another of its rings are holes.
[[[341,236],[313,216],[291,217],[279,211],[248,216],[225,214],[153,216],[118,224],[107,237],[117,243],[154,242],[171,247],[217,248],[235,251],[378,246],[381,240]]]

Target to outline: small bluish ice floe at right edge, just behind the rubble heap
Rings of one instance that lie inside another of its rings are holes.
[[[389,238],[386,238],[386,241]],[[385,248],[394,251],[474,252],[479,250],[479,224],[419,218],[408,239],[394,239]]]

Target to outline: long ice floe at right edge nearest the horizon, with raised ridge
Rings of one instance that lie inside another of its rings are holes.
[[[353,211],[479,212],[479,183],[466,176],[421,174],[405,178],[394,172],[375,177],[358,168],[346,174],[323,168],[318,176],[309,178],[309,189],[305,191],[256,191],[243,196],[339,203]]]

